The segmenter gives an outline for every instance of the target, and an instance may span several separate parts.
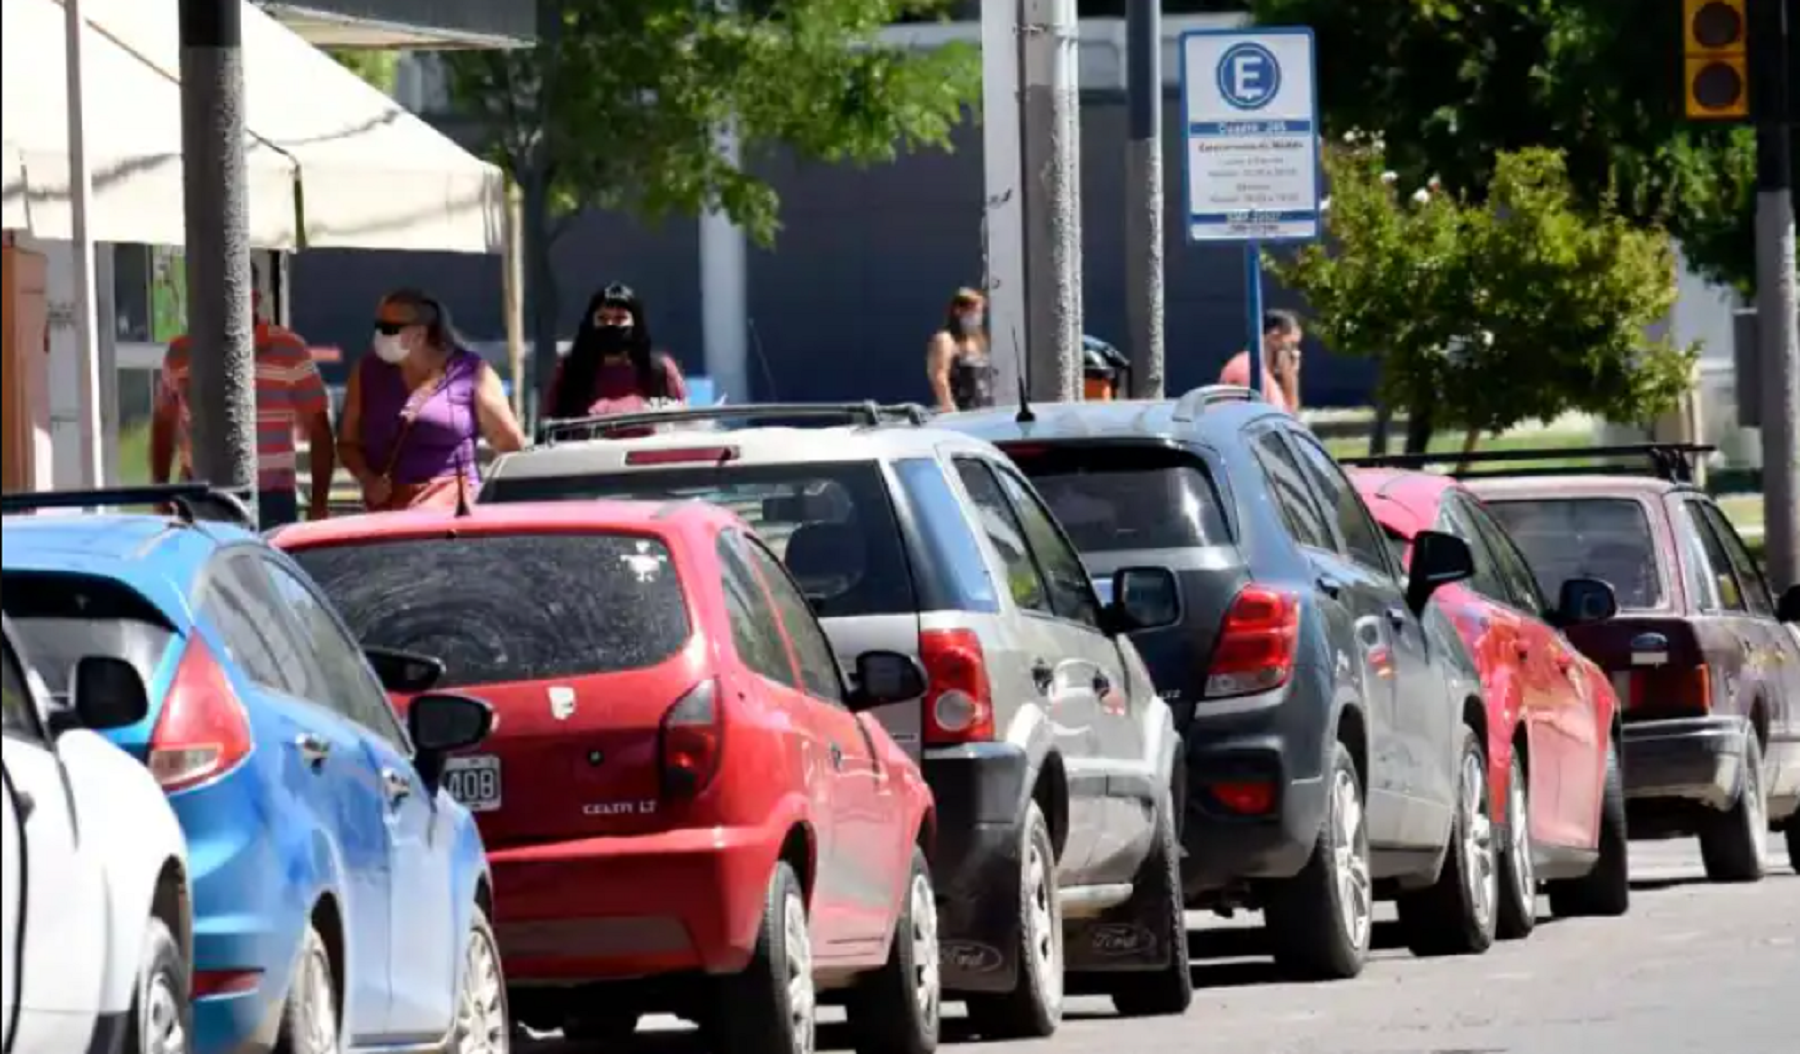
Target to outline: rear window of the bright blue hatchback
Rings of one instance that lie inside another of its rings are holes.
[[[9,570],[0,594],[45,689],[58,698],[68,694],[70,674],[88,655],[130,662],[148,685],[175,640],[162,610],[110,577]]]

